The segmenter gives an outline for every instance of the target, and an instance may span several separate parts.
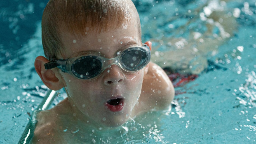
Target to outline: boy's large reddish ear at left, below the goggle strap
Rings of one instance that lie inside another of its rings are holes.
[[[64,87],[60,74],[56,69],[46,70],[44,64],[49,62],[43,56],[38,56],[35,60],[35,69],[43,83],[51,90],[59,90]]]

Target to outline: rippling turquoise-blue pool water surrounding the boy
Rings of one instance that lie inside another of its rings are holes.
[[[43,55],[40,22],[46,3],[46,0],[0,2],[0,143],[18,142],[29,115],[48,91],[34,70],[34,59]],[[256,1],[136,0],[134,3],[140,14],[142,41],[153,42],[153,55],[156,51],[163,53],[164,60],[159,60],[159,65],[165,67],[172,63],[174,55],[181,54],[185,58],[182,63],[192,67],[177,72],[199,76],[175,88],[172,109],[150,112],[147,117],[137,117],[135,123],[128,122],[124,127],[136,131],[121,129],[120,142],[255,143]],[[202,16],[209,9],[223,12],[215,22],[222,25],[228,22],[230,28],[236,25],[230,37],[217,39],[221,30],[216,26],[209,33],[209,21]],[[234,21],[226,20],[225,16],[235,16]],[[203,41],[193,38],[193,34],[199,33],[204,36]],[[214,44],[214,48],[197,40]],[[195,52],[193,48],[203,52]],[[168,52],[172,55],[167,55]],[[205,62],[206,66],[202,64]],[[179,66],[180,61],[177,63]],[[198,72],[198,67],[203,69]],[[55,103],[61,99],[57,98]]]

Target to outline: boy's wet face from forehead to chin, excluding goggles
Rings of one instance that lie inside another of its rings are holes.
[[[130,46],[141,46],[137,22],[131,20],[122,27],[108,32],[88,32],[86,36],[62,33],[64,51],[62,58],[79,56],[79,52],[95,51],[105,58],[113,56]],[[140,97],[144,69],[128,73],[117,65],[111,65],[95,80],[77,79],[60,72],[69,99],[92,121],[108,127],[125,123]],[[118,99],[119,98],[119,99]],[[117,100],[116,100],[117,99]],[[113,100],[119,104],[107,103]]]

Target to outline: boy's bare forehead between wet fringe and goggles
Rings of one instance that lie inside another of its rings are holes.
[[[116,51],[141,45],[139,32],[132,26],[100,33],[88,32],[85,35],[64,32],[62,43],[64,46],[62,58],[76,57],[87,51],[99,52],[111,57]]]

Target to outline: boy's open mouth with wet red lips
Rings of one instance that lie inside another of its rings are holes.
[[[118,112],[123,109],[123,99],[116,98],[106,102],[107,109],[111,110],[112,112]]]

